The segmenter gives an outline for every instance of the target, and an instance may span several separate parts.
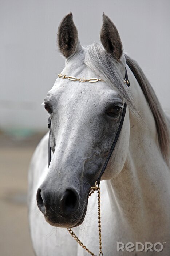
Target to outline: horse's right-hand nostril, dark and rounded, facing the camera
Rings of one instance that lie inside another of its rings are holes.
[[[74,189],[66,189],[60,199],[60,210],[65,215],[74,214],[80,206],[80,196]]]

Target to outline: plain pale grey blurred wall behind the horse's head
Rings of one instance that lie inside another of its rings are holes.
[[[70,11],[82,45],[99,41],[103,11],[113,20],[170,112],[169,0],[0,0],[0,129],[47,129],[41,103],[64,67],[56,32]]]

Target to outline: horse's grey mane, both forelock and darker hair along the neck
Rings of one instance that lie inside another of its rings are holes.
[[[143,74],[142,69],[139,67],[136,61],[132,60],[126,54],[124,55],[126,57],[126,63],[137,79],[154,116],[159,146],[161,148],[164,159],[168,163],[170,138],[163,109],[161,108],[153,88],[151,87],[146,76]],[[116,68],[116,62],[117,61],[114,60],[114,58],[104,50],[101,44],[94,43],[88,47],[88,51],[85,57],[85,64],[92,71],[94,71],[96,75],[106,81],[109,86],[116,89],[120,93],[120,95],[124,98],[127,105],[129,106],[132,114],[134,114],[138,120],[141,121],[140,114],[138,113],[137,108],[133,102],[133,97],[130,94],[128,88],[124,86],[123,79],[120,77],[118,69]]]

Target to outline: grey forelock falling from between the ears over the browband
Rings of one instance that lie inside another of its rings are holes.
[[[86,52],[84,62],[96,75],[101,77],[112,89],[122,96],[134,116],[141,121],[133,96],[128,86],[124,85],[124,77],[122,77],[122,74],[118,70],[118,61],[104,50],[102,44],[95,42],[90,45]]]

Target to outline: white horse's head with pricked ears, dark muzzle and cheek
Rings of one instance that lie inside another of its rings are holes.
[[[102,44],[82,47],[71,13],[64,17],[58,29],[58,45],[66,57],[66,65],[44,99],[44,107],[51,117],[50,146],[54,155],[37,191],[38,207],[53,226],[75,227],[83,222],[89,189],[98,179],[116,136],[124,102],[130,102],[128,88],[123,83],[122,43],[116,27],[105,14],[100,39]],[[91,78],[98,81],[84,82]],[[128,145],[127,109],[103,180],[120,173]]]

